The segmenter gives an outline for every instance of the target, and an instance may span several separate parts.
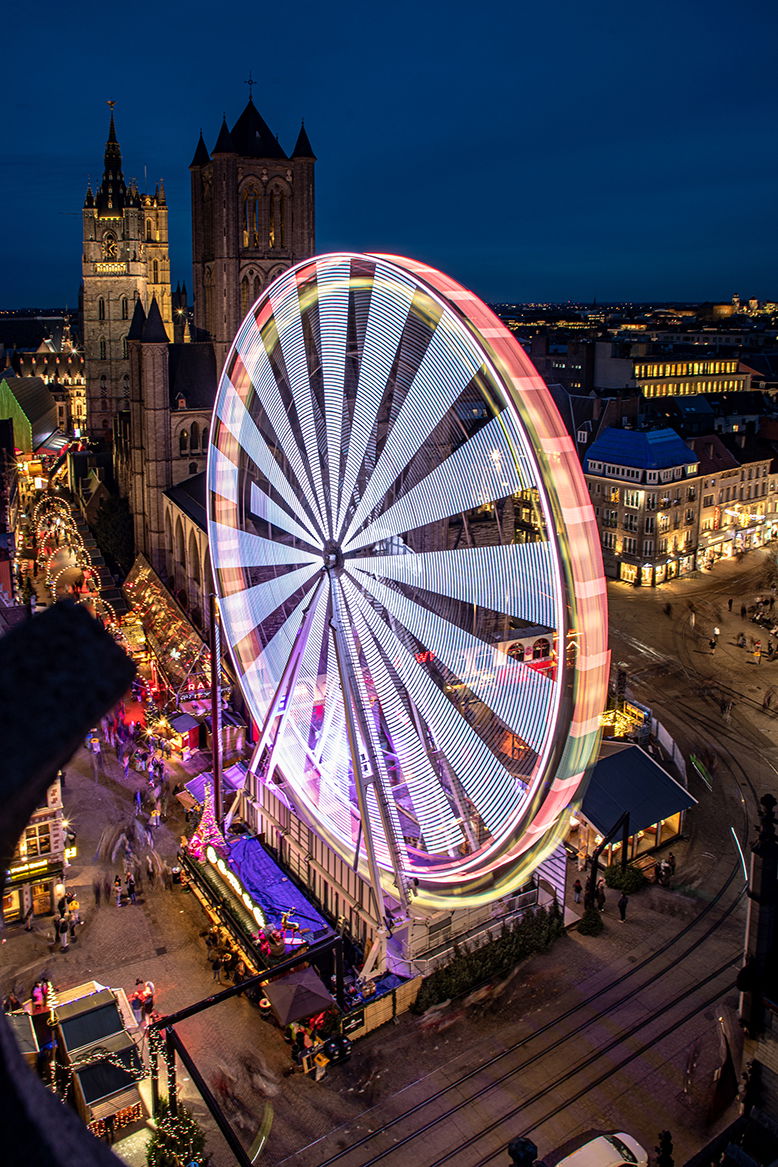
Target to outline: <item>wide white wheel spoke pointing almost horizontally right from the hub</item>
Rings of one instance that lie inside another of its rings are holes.
[[[408,587],[553,628],[556,567],[548,543],[509,543],[346,561]]]

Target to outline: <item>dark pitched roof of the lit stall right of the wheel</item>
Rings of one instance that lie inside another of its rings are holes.
[[[630,834],[696,805],[696,798],[639,746],[605,746],[581,806],[601,834],[630,812]]]

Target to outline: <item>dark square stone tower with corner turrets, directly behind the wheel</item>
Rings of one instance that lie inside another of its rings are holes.
[[[288,158],[253,99],[209,154],[201,133],[191,161],[195,326],[213,342],[220,371],[238,326],[260,292],[314,254],[314,165],[301,126]]]

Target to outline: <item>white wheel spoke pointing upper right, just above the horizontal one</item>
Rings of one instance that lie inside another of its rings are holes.
[[[377,519],[362,531],[355,530],[344,540],[343,550],[372,546],[392,536],[506,498],[533,484],[534,475],[510,415],[500,413]]]

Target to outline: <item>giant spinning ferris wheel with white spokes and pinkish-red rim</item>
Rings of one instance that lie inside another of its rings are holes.
[[[511,334],[408,259],[293,267],[227,357],[208,505],[259,778],[379,920],[521,883],[595,760],[608,652],[583,475]]]

